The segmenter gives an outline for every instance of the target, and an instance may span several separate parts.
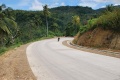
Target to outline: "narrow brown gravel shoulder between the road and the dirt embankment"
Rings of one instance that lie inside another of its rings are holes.
[[[63,45],[65,45],[67,47],[74,48],[74,49],[95,53],[95,54],[101,54],[101,55],[120,58],[120,50],[105,49],[105,48],[103,48],[103,49],[102,48],[90,48],[90,47],[78,46],[78,45],[72,44],[70,41],[63,41]]]

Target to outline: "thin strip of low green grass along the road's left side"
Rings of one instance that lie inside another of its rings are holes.
[[[20,47],[21,45],[24,45],[24,44],[27,44],[27,43],[31,43],[31,42],[35,42],[35,41],[50,39],[50,38],[54,38],[54,37],[53,36],[42,37],[42,38],[37,38],[37,39],[34,39],[34,40],[30,40],[30,41],[28,41],[26,43],[18,42],[18,43],[15,43],[15,44],[13,44],[13,45],[11,45],[9,47],[1,47],[0,48],[0,56],[3,55],[6,51],[9,51],[11,49]]]

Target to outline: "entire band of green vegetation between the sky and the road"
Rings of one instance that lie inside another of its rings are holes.
[[[10,46],[20,46],[46,36],[75,36],[96,27],[119,32],[119,21],[120,9],[114,9],[112,5],[106,10],[82,6],[49,9],[45,5],[43,11],[25,11],[13,10],[3,4],[0,5],[0,53]]]

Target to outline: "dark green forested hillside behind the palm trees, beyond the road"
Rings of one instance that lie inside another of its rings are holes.
[[[74,36],[78,32],[75,31],[76,23],[73,21],[75,16],[79,17],[78,28],[79,25],[86,24],[88,19],[96,16],[94,13],[95,11],[90,7],[62,6],[48,10],[48,36]],[[2,11],[1,9],[1,13],[4,13],[4,11],[7,10]],[[9,10],[5,16],[7,17],[8,14],[10,17],[14,18],[14,21],[17,23],[18,32],[15,38],[16,42],[24,43],[29,40],[46,36],[46,20],[43,11],[12,9]],[[4,41],[3,43],[5,45],[8,44],[7,41]]]

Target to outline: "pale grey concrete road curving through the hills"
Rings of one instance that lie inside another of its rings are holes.
[[[37,80],[120,80],[120,59],[62,45],[72,38],[34,42],[27,57]]]

